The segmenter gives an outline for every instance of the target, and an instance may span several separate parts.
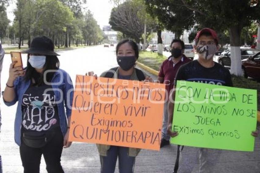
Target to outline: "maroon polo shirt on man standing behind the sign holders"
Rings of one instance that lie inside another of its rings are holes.
[[[191,61],[191,59],[183,55],[181,60],[174,64],[172,58],[173,57],[170,56],[167,60],[163,61],[158,74],[158,77],[162,77],[163,83],[166,85],[165,89],[168,92],[168,96],[165,94],[166,98],[169,98],[170,90],[173,89],[174,79],[180,66]]]

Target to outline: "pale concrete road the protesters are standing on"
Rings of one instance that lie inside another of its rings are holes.
[[[117,65],[114,48],[102,46],[76,49],[59,52],[61,56],[61,68],[65,69],[75,81],[76,74],[85,74],[87,71],[95,71],[100,75],[102,71]],[[1,88],[4,89],[8,78],[8,68],[11,60],[6,55],[1,75]],[[23,55],[23,62],[26,56]],[[155,76],[153,76],[155,78]],[[0,153],[3,160],[4,172],[23,172],[20,161],[19,148],[14,143],[13,122],[16,105],[6,107],[1,99],[2,129],[0,141]],[[176,157],[176,145],[169,145],[159,152],[142,150],[136,158],[135,172],[170,173]],[[41,172],[45,171],[45,162],[41,161]],[[94,172],[100,169],[98,151],[95,144],[73,143],[70,148],[64,149],[61,163],[65,172]],[[194,172],[198,170],[198,164]],[[118,171],[116,171],[118,172]],[[217,173],[260,173],[260,138],[255,141],[254,152],[224,151],[216,167]]]

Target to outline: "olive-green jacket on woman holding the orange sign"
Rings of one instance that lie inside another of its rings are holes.
[[[113,78],[117,78],[118,76],[118,70],[119,68],[117,68],[117,70],[115,71],[115,75],[113,76]],[[100,77],[104,77],[106,75],[106,72],[103,72]],[[136,75],[136,70],[134,70],[133,74],[130,77],[130,80],[138,80],[138,77]],[[98,147],[98,152],[100,156],[107,156],[107,150],[110,149],[110,145],[104,145],[104,144],[97,144]],[[141,149],[139,148],[128,148],[128,156],[131,157],[136,157],[138,155],[138,153],[140,152]]]

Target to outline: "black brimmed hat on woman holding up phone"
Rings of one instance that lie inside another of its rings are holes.
[[[35,37],[32,40],[30,48],[22,53],[59,56],[59,54],[54,52],[54,44],[52,40],[45,36]]]

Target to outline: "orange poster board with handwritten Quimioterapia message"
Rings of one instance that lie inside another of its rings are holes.
[[[77,75],[69,141],[160,149],[165,85]]]

